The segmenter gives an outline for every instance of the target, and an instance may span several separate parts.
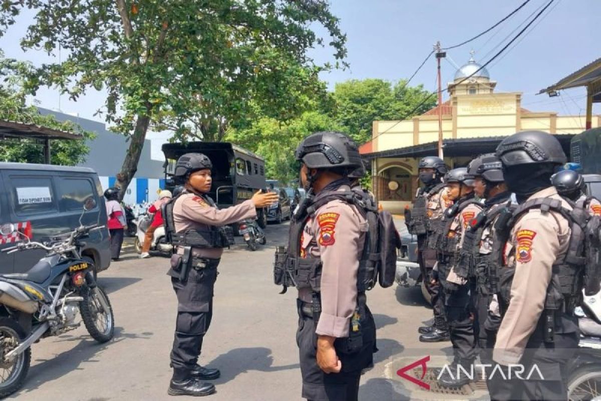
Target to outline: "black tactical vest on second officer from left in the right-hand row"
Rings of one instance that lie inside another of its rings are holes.
[[[435,230],[432,232],[430,238],[436,242],[436,256],[438,258],[438,274],[441,280],[444,282],[447,278],[448,272],[452,266],[456,266],[459,262],[459,252],[457,251],[457,245],[461,239],[459,236],[451,231],[451,225],[455,218],[463,212],[463,209],[471,204],[476,204],[481,208],[480,202],[474,198],[465,200],[460,203],[454,204],[450,209],[445,211],[444,219],[442,224],[436,225]],[[459,222],[463,224],[463,222]]]

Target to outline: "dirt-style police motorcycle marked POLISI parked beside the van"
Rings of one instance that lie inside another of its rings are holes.
[[[37,248],[47,252],[24,274],[0,275],[0,397],[19,390],[25,381],[31,345],[40,338],[78,328],[78,311],[94,340],[106,343],[114,335],[111,303],[96,284],[93,264],[80,253],[88,234],[104,228],[81,224],[84,213],[95,206],[94,198],[85,200],[79,227],[45,243],[29,240],[13,224],[0,227],[3,235],[19,233],[25,237],[2,252]]]

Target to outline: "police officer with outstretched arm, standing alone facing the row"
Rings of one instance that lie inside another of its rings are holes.
[[[206,396],[215,385],[203,382],[219,378],[219,370],[197,364],[203,337],[213,316],[213,286],[217,266],[228,240],[219,227],[256,218],[258,207],[275,203],[274,193],[254,196],[233,207],[217,209],[206,194],[211,189],[212,163],[201,153],[186,153],[175,165],[175,181],[183,191],[165,205],[163,218],[177,253],[171,258],[171,283],[177,295],[175,338],[171,350],[171,396]]]

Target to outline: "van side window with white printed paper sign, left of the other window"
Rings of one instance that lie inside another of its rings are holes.
[[[17,215],[58,212],[50,177],[10,177]]]

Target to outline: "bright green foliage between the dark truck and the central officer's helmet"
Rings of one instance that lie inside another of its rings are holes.
[[[263,156],[268,178],[290,183],[299,177],[294,161],[299,142],[311,133],[323,130],[345,132],[345,128],[328,115],[311,111],[287,123],[279,123],[270,117],[260,118],[251,127],[230,130],[225,139]]]

